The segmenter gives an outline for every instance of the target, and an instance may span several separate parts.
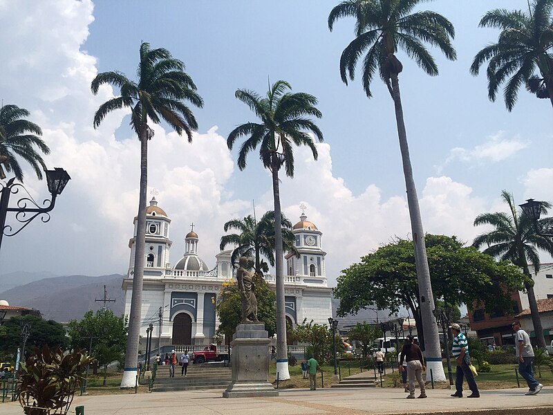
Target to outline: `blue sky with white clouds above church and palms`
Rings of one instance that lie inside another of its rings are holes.
[[[182,60],[203,97],[191,107],[199,128],[191,144],[166,124],[153,125],[149,143],[149,196],[171,217],[171,264],[184,252],[194,223],[199,254],[210,267],[234,218],[272,209],[270,173],[256,153],[241,172],[226,138],[256,121],[236,89],[265,94],[286,80],[293,91],[315,95],[323,118],[319,159],[295,149],[293,179],[281,175],[283,212],[295,223],[299,205],[323,232],[326,270],[334,286],[341,270],[394,237],[411,236],[393,101],[376,79],[366,98],[359,76],[346,86],[339,57],[353,40],[353,19],[332,32],[327,18],[337,1],[90,1],[0,0],[0,99],[30,111],[51,154],[48,167],[71,175],[48,223],[36,219],[4,237],[0,275],[48,271],[56,275],[126,273],[133,216],[138,211],[140,143],[129,111],[116,111],[93,128],[97,108],[118,94],[97,73],[118,70],[134,78],[142,41]],[[552,107],[522,89],[509,113],[501,97],[487,98],[485,73],[474,77],[474,55],[497,39],[478,28],[492,8],[524,9],[525,0],[437,0],[435,10],[456,28],[455,62],[431,49],[440,75],[429,77],[398,53],[400,88],[411,163],[426,232],[470,243],[483,212],[505,210],[501,190],[516,203],[553,201]],[[24,165],[24,163],[22,163]],[[28,165],[25,185],[42,201],[46,183]],[[16,225],[13,216],[7,224]],[[550,260],[550,259],[549,259]],[[1,286],[1,281],[0,281]],[[1,291],[1,289],[0,289]]]

